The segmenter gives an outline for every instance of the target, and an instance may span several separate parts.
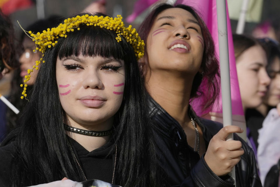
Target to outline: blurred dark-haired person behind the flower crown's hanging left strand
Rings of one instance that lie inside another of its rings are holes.
[[[50,16],[46,19],[37,20],[34,23],[31,23],[29,26],[27,26],[27,31],[31,30],[34,31],[34,33],[41,32],[42,30],[45,30],[47,28],[52,28],[58,25],[61,22],[62,18],[57,15]],[[33,51],[35,49],[34,41],[32,41],[31,38],[29,38],[24,32],[20,35],[20,44],[22,46],[22,53],[19,57],[20,67],[16,68],[13,72],[13,78],[11,80],[11,86],[10,86],[10,94],[8,96],[8,100],[18,109],[23,108],[24,104],[27,102],[27,100],[20,99],[22,89],[19,87],[20,84],[23,83],[24,77],[28,75],[27,69],[30,69],[36,60],[40,59],[42,57],[42,53],[39,51]],[[34,84],[34,81],[36,79],[38,71],[31,72],[31,79],[27,82],[27,91],[32,90],[32,86]],[[10,108],[7,108],[6,110],[6,128],[5,130],[2,129],[3,134],[9,133],[17,123],[18,115],[15,114]],[[0,142],[3,140],[4,136],[0,137]]]

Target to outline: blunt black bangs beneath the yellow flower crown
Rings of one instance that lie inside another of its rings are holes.
[[[106,28],[81,25],[81,30],[67,33],[57,43],[58,58],[69,56],[101,56],[124,60],[127,53],[134,53],[132,46],[125,39],[118,42],[117,34]]]

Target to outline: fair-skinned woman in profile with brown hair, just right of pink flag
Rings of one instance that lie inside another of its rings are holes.
[[[263,117],[251,109],[261,105],[267,93],[270,78],[267,75],[267,56],[261,43],[254,38],[233,34],[234,56],[241,95],[241,101],[247,125],[247,143],[253,148],[255,155],[257,147],[251,135],[252,126],[261,126]],[[260,118],[262,120],[260,120]]]

